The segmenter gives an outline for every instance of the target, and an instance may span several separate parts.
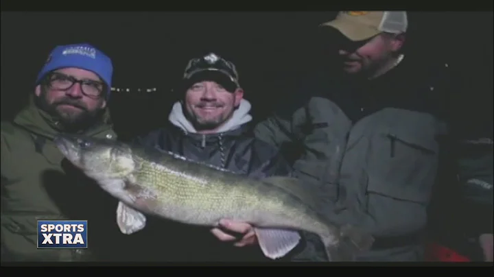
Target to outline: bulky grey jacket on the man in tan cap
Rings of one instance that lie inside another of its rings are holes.
[[[346,82],[322,72],[292,101],[285,99],[291,107],[280,107],[255,128],[259,139],[274,146],[301,145],[294,174],[320,190],[326,201],[320,208],[376,237],[374,254],[362,260],[419,258],[392,248],[420,243],[440,154],[456,149],[451,145],[461,139],[454,134],[472,134],[455,130],[447,115],[445,97],[458,91],[451,86],[450,69],[405,57],[370,81]],[[454,157],[460,177],[475,175],[492,188],[492,152],[477,155]],[[492,189],[485,193],[492,196]]]

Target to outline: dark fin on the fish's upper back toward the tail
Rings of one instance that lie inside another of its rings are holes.
[[[317,199],[316,193],[310,186],[304,186],[301,180],[298,180],[294,177],[285,177],[285,176],[271,176],[267,178],[261,179],[262,182],[266,182],[268,184],[272,184],[273,186],[277,186],[279,189],[283,189],[294,195],[299,200],[301,200],[304,204],[315,208]]]

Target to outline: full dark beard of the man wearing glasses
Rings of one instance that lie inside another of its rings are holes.
[[[103,110],[89,110],[84,102],[64,97],[49,103],[46,93],[42,91],[40,97],[36,97],[36,104],[45,112],[47,112],[54,120],[58,121],[64,131],[79,132],[86,130],[94,125],[101,118]],[[75,108],[73,110],[64,110],[62,105],[70,105]]]

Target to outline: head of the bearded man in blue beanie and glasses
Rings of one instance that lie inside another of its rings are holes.
[[[90,128],[106,109],[113,65],[87,44],[55,47],[36,78],[36,102],[58,122],[56,128]]]

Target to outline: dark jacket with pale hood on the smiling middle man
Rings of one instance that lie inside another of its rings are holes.
[[[248,112],[250,108],[246,110]],[[194,134],[187,132],[187,127],[177,127],[189,123],[181,110],[177,111],[177,106],[175,112],[179,113],[180,119],[174,120],[172,116],[174,124],[140,136],[135,143],[208,162],[252,178],[290,174],[290,166],[278,155],[277,149],[255,139],[247,123],[231,124],[230,130],[216,134]],[[172,111],[172,115],[177,114]],[[244,122],[238,113],[230,123],[232,121]],[[267,261],[257,246],[235,248],[231,243],[218,241],[210,229],[150,219],[146,228],[132,236],[136,238],[138,247],[146,249],[147,254],[140,252],[139,258],[148,261]]]

